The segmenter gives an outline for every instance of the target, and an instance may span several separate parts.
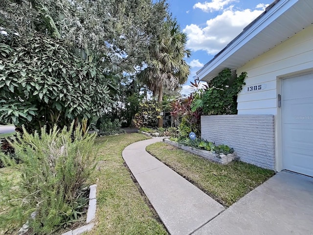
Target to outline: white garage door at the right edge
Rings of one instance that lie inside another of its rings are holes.
[[[313,176],[313,73],[283,80],[284,169]]]

